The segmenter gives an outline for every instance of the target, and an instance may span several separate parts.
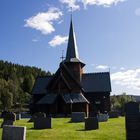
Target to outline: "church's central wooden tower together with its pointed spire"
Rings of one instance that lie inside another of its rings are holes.
[[[76,93],[82,92],[80,82],[82,80],[84,66],[85,66],[85,64],[82,61],[80,61],[80,59],[79,59],[78,48],[77,48],[77,44],[76,44],[76,37],[75,37],[73,22],[72,22],[72,18],[71,18],[66,58],[60,64],[60,67],[62,68],[61,72],[64,75],[64,77],[66,78],[67,83],[69,83],[69,85],[72,89],[71,92],[76,92]],[[68,69],[68,71],[71,74],[71,77],[73,77],[73,80],[76,83],[72,81],[72,78],[68,77],[68,75],[65,73],[65,70],[63,69],[63,67]]]

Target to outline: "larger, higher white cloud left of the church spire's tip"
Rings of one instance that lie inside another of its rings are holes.
[[[41,31],[42,34],[50,34],[55,31],[53,22],[60,19],[62,12],[58,8],[49,8],[47,12],[40,12],[25,20],[25,27]]]

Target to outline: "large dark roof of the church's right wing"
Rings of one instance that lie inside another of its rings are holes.
[[[81,84],[85,92],[111,92],[109,72],[83,74]]]

